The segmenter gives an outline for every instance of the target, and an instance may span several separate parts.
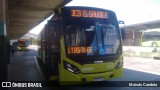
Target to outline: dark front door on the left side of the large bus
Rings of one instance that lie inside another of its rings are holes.
[[[48,24],[46,30],[47,36],[47,54],[46,54],[46,65],[47,73],[50,80],[58,80],[58,63],[60,61],[60,34],[61,34],[61,23],[51,21]]]

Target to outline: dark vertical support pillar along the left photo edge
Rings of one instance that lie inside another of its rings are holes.
[[[6,0],[0,0],[0,82],[8,80],[6,36]]]

